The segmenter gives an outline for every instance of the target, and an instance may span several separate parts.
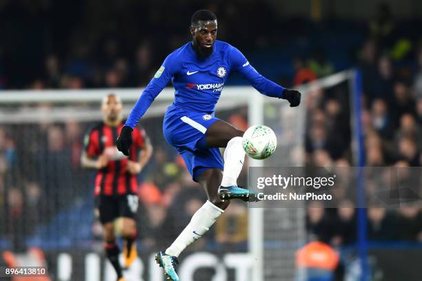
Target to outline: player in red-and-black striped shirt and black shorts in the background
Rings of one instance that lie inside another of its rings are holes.
[[[115,94],[104,97],[101,111],[103,122],[92,127],[86,134],[81,165],[98,170],[94,194],[99,220],[103,225],[106,254],[116,270],[118,280],[122,281],[124,279],[119,264],[120,250],[115,242],[114,222],[117,222],[117,230],[125,240],[124,265],[129,267],[137,258],[134,243],[137,235],[134,216],[139,205],[137,174],[148,163],[152,155],[152,145],[143,129],[134,128],[130,155],[123,155],[114,144],[123,127],[120,98]]]

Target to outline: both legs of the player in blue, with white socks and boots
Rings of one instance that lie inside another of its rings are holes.
[[[227,147],[224,154],[225,171],[222,173],[221,169],[218,168],[199,168],[194,170],[194,179],[205,189],[208,200],[192,216],[188,226],[183,229],[170,247],[156,256],[157,262],[164,268],[165,275],[171,280],[179,280],[175,265],[180,253],[194,241],[199,240],[230,204],[228,200],[221,200],[221,189],[223,189],[223,194],[227,196],[227,199],[241,198],[248,200],[250,198],[248,189],[237,187],[237,177],[241,172],[243,160],[245,159],[245,152],[243,152],[241,145],[242,135],[243,132],[239,129],[218,120],[210,125],[203,139],[199,141],[199,147],[203,149],[212,150],[214,147]],[[224,184],[223,187],[220,187],[221,183]]]

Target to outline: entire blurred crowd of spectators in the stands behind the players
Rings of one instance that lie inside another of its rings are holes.
[[[189,41],[189,17],[181,20],[180,15],[190,15],[195,10],[182,11],[177,2],[149,6],[128,1],[129,6],[115,3],[90,13],[92,8],[83,1],[64,1],[68,6],[56,6],[57,1],[30,2],[26,2],[23,10],[16,6],[19,1],[6,1],[0,6],[0,23],[13,22],[15,17],[21,23],[14,33],[19,34],[28,24],[33,27],[32,36],[19,37],[23,41],[21,45],[16,43],[16,36],[11,43],[0,42],[0,89],[144,86],[165,55]],[[235,1],[216,1],[208,8],[224,23],[219,26],[219,36],[230,37],[230,43],[242,50],[259,52],[260,48],[282,41],[277,32],[286,27],[281,27],[283,22],[268,7],[250,5],[239,10]],[[46,14],[57,17],[54,15],[61,9],[70,9],[73,13],[66,14],[72,14],[72,18],[46,20],[50,19]],[[254,11],[255,17],[248,18],[244,29],[239,28],[237,23],[242,13],[249,10]],[[22,11],[26,13],[23,21],[17,17]],[[397,34],[408,32],[401,32],[399,23],[389,13],[388,9],[381,9],[367,27],[359,29],[368,39],[352,55],[353,65],[359,67],[363,79],[361,118],[365,165],[419,167],[422,164],[422,48],[418,45],[420,38],[412,34],[409,39],[398,37]],[[265,32],[259,28],[263,25],[268,28]],[[0,24],[0,28],[4,26]],[[147,30],[144,26],[155,28]],[[231,28],[236,28],[236,32],[230,32]],[[246,43],[245,34],[250,37]],[[19,50],[37,36],[46,41],[35,43],[30,50]],[[298,43],[301,37],[303,34],[297,35],[297,41],[292,42]],[[15,46],[17,50],[12,49]],[[286,86],[299,85],[341,70],[329,54],[330,50],[322,45],[309,50],[307,56],[297,56],[294,61],[288,61],[294,69],[293,75],[287,80],[279,77],[279,81],[288,81]],[[22,69],[22,65],[28,67]],[[302,109],[307,110],[308,116],[306,165],[356,165],[351,145],[353,112],[350,96],[345,93],[349,93],[347,85],[328,90],[315,88],[304,101]],[[237,114],[225,112],[219,117],[241,129],[247,127],[244,109]],[[205,200],[204,192],[185,171],[183,160],[164,143],[160,126],[154,125],[157,122],[161,120],[150,118],[142,123],[154,145],[154,156],[141,174],[143,183],[139,187],[139,239],[147,248],[167,245]],[[39,231],[37,226],[47,224],[54,214],[72,208],[75,202],[79,206],[79,202],[88,200],[91,173],[81,169],[79,156],[83,134],[90,125],[73,121],[59,125],[1,125],[0,229],[5,231],[0,233],[0,247],[8,241],[17,249],[24,247],[26,238]],[[245,183],[245,170],[239,183]],[[209,247],[230,245],[234,249],[246,249],[247,223],[245,205],[234,203],[207,237],[194,247],[208,243]],[[89,227],[90,235],[99,238],[98,222]],[[339,202],[336,209],[312,205],[308,209],[308,231],[336,246],[355,242],[356,209],[347,200]],[[369,208],[368,237],[421,242],[421,208]]]

